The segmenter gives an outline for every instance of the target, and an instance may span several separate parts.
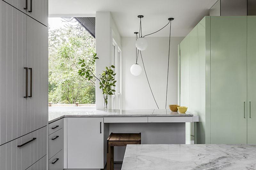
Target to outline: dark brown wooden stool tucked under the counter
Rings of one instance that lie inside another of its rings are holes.
[[[114,146],[141,144],[141,133],[110,133],[107,139],[107,170],[114,170]]]

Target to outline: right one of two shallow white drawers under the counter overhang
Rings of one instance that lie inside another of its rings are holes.
[[[148,117],[148,122],[192,122],[192,117]]]

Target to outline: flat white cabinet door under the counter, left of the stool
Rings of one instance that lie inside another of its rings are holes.
[[[103,118],[67,119],[68,169],[104,168],[103,132]]]

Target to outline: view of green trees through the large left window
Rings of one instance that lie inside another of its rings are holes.
[[[78,59],[93,57],[95,39],[75,18],[60,19],[64,27],[49,23],[49,102],[94,104],[95,78],[88,81],[78,75]]]

